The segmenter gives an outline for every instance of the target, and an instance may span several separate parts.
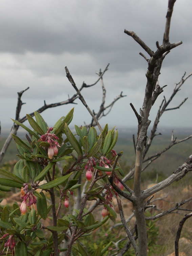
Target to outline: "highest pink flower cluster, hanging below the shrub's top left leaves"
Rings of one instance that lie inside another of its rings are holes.
[[[54,155],[57,155],[58,154],[58,147],[59,146],[59,143],[56,141],[56,140],[59,140],[59,137],[55,135],[55,133],[49,133],[50,131],[52,131],[53,128],[50,127],[48,130],[47,130],[47,133],[41,135],[40,137],[40,141],[43,141],[43,142],[48,142],[49,143],[49,147],[48,147],[48,151],[47,151],[47,154],[48,154],[48,157],[51,159]]]

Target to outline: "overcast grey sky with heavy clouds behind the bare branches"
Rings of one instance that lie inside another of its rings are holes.
[[[93,83],[96,71],[110,63],[103,77],[107,90],[106,104],[121,91],[110,114],[100,121],[110,127],[137,127],[136,110],[142,107],[146,85],[147,53],[124,29],[134,31],[152,50],[162,44],[168,0],[1,0],[0,1],[0,121],[1,127],[12,125],[17,92],[30,87],[22,97],[20,117],[43,105],[64,101],[75,91],[66,78],[68,67],[76,85]],[[174,6],[170,42],[183,41],[163,62],[160,86],[167,84],[151,111],[154,116],[163,96],[169,98],[174,83],[186,71],[192,71],[192,1],[177,0]],[[148,57],[148,56],[147,56]],[[171,107],[189,97],[179,110],[167,111],[160,126],[191,127],[192,77],[184,84]],[[101,84],[84,89],[89,107],[99,109]],[[73,124],[88,124],[90,117],[79,99],[78,105],[47,109],[42,113],[49,126],[74,106]]]

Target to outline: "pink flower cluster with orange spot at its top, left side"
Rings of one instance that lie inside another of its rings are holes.
[[[21,195],[22,195],[21,198],[23,199],[23,201],[20,206],[20,211],[22,215],[25,215],[27,212],[27,206],[33,207],[34,205],[37,211],[37,207],[36,207],[37,199],[35,198],[33,194],[33,190],[31,189],[28,183],[24,183],[23,186],[24,187],[21,188]],[[28,202],[27,202],[27,199],[28,199]]]

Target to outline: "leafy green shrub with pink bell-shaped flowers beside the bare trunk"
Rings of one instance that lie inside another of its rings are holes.
[[[0,169],[0,189],[21,189],[23,202],[20,209],[14,204],[10,209],[5,206],[0,210],[1,251],[9,241],[10,253],[15,248],[16,255],[50,255],[59,250],[56,240],[59,245],[68,231],[75,228],[80,239],[105,225],[109,218],[116,218],[112,199],[106,199],[101,192],[108,190],[113,196],[105,172],[113,167],[115,156],[111,150],[116,144],[118,132],[114,128],[108,130],[108,125],[101,134],[97,134],[94,127],[87,130],[85,126],[75,126],[77,134],[73,134],[68,126],[73,111],[71,109],[66,116],[62,116],[53,128],[47,127],[37,111],[35,119],[27,114],[31,129],[13,120],[29,135],[26,135],[26,141],[13,134],[20,160],[12,172]],[[58,162],[64,166],[62,172],[56,167]],[[120,171],[120,168],[115,170]],[[92,183],[85,187],[86,200],[98,199],[98,206],[103,205],[108,211],[102,221],[94,219],[94,207],[89,212],[85,206],[75,210],[75,213],[66,212],[68,200],[73,208],[73,195],[77,195],[77,190],[84,186],[85,172],[92,175]],[[45,226],[42,219],[48,221]],[[101,243],[93,248],[91,254],[108,255],[110,246],[110,241]],[[88,255],[80,242],[72,250],[74,255]]]

